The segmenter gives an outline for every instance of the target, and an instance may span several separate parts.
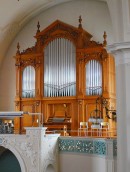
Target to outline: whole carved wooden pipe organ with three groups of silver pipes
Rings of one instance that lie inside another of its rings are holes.
[[[105,49],[106,34],[103,44],[91,40],[81,21],[76,28],[57,20],[43,31],[38,22],[36,44],[22,52],[17,45],[15,109],[41,113],[44,126],[77,130],[100,95],[115,107],[115,65]],[[37,120],[16,118],[15,130],[24,132]]]

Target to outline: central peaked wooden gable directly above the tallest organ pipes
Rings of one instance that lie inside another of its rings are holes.
[[[92,38],[92,35],[83,28],[77,28],[60,20],[56,20],[43,31],[37,32],[35,36],[37,42],[40,41],[40,45],[42,46],[55,38],[61,37],[71,40],[77,48],[85,48],[87,42]]]

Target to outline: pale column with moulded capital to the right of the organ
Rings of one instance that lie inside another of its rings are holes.
[[[130,43],[109,46],[116,61],[117,171],[130,169]]]

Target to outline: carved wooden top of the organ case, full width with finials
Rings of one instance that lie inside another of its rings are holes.
[[[35,45],[20,52],[20,45],[18,43],[16,55],[43,53],[44,48],[48,43],[56,38],[65,38],[70,40],[73,42],[77,50],[89,48],[100,49],[104,47],[103,44],[99,44],[98,42],[91,40],[92,35],[82,28],[81,19],[78,27],[56,20],[42,31],[40,31],[40,24],[38,22],[37,28]]]

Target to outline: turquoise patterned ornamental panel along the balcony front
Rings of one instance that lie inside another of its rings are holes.
[[[117,155],[117,142],[113,142],[113,155]],[[109,140],[110,142],[110,140]],[[59,151],[60,152],[73,152],[93,154],[100,156],[107,156],[108,143],[105,139],[89,139],[89,138],[59,138]]]

